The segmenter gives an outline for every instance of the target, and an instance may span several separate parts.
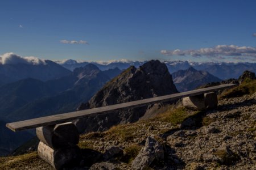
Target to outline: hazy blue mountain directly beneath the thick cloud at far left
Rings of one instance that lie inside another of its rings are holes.
[[[20,79],[34,78],[42,81],[60,78],[71,71],[57,63],[45,60],[39,64],[29,63],[0,63],[0,82],[2,84],[15,82]]]

